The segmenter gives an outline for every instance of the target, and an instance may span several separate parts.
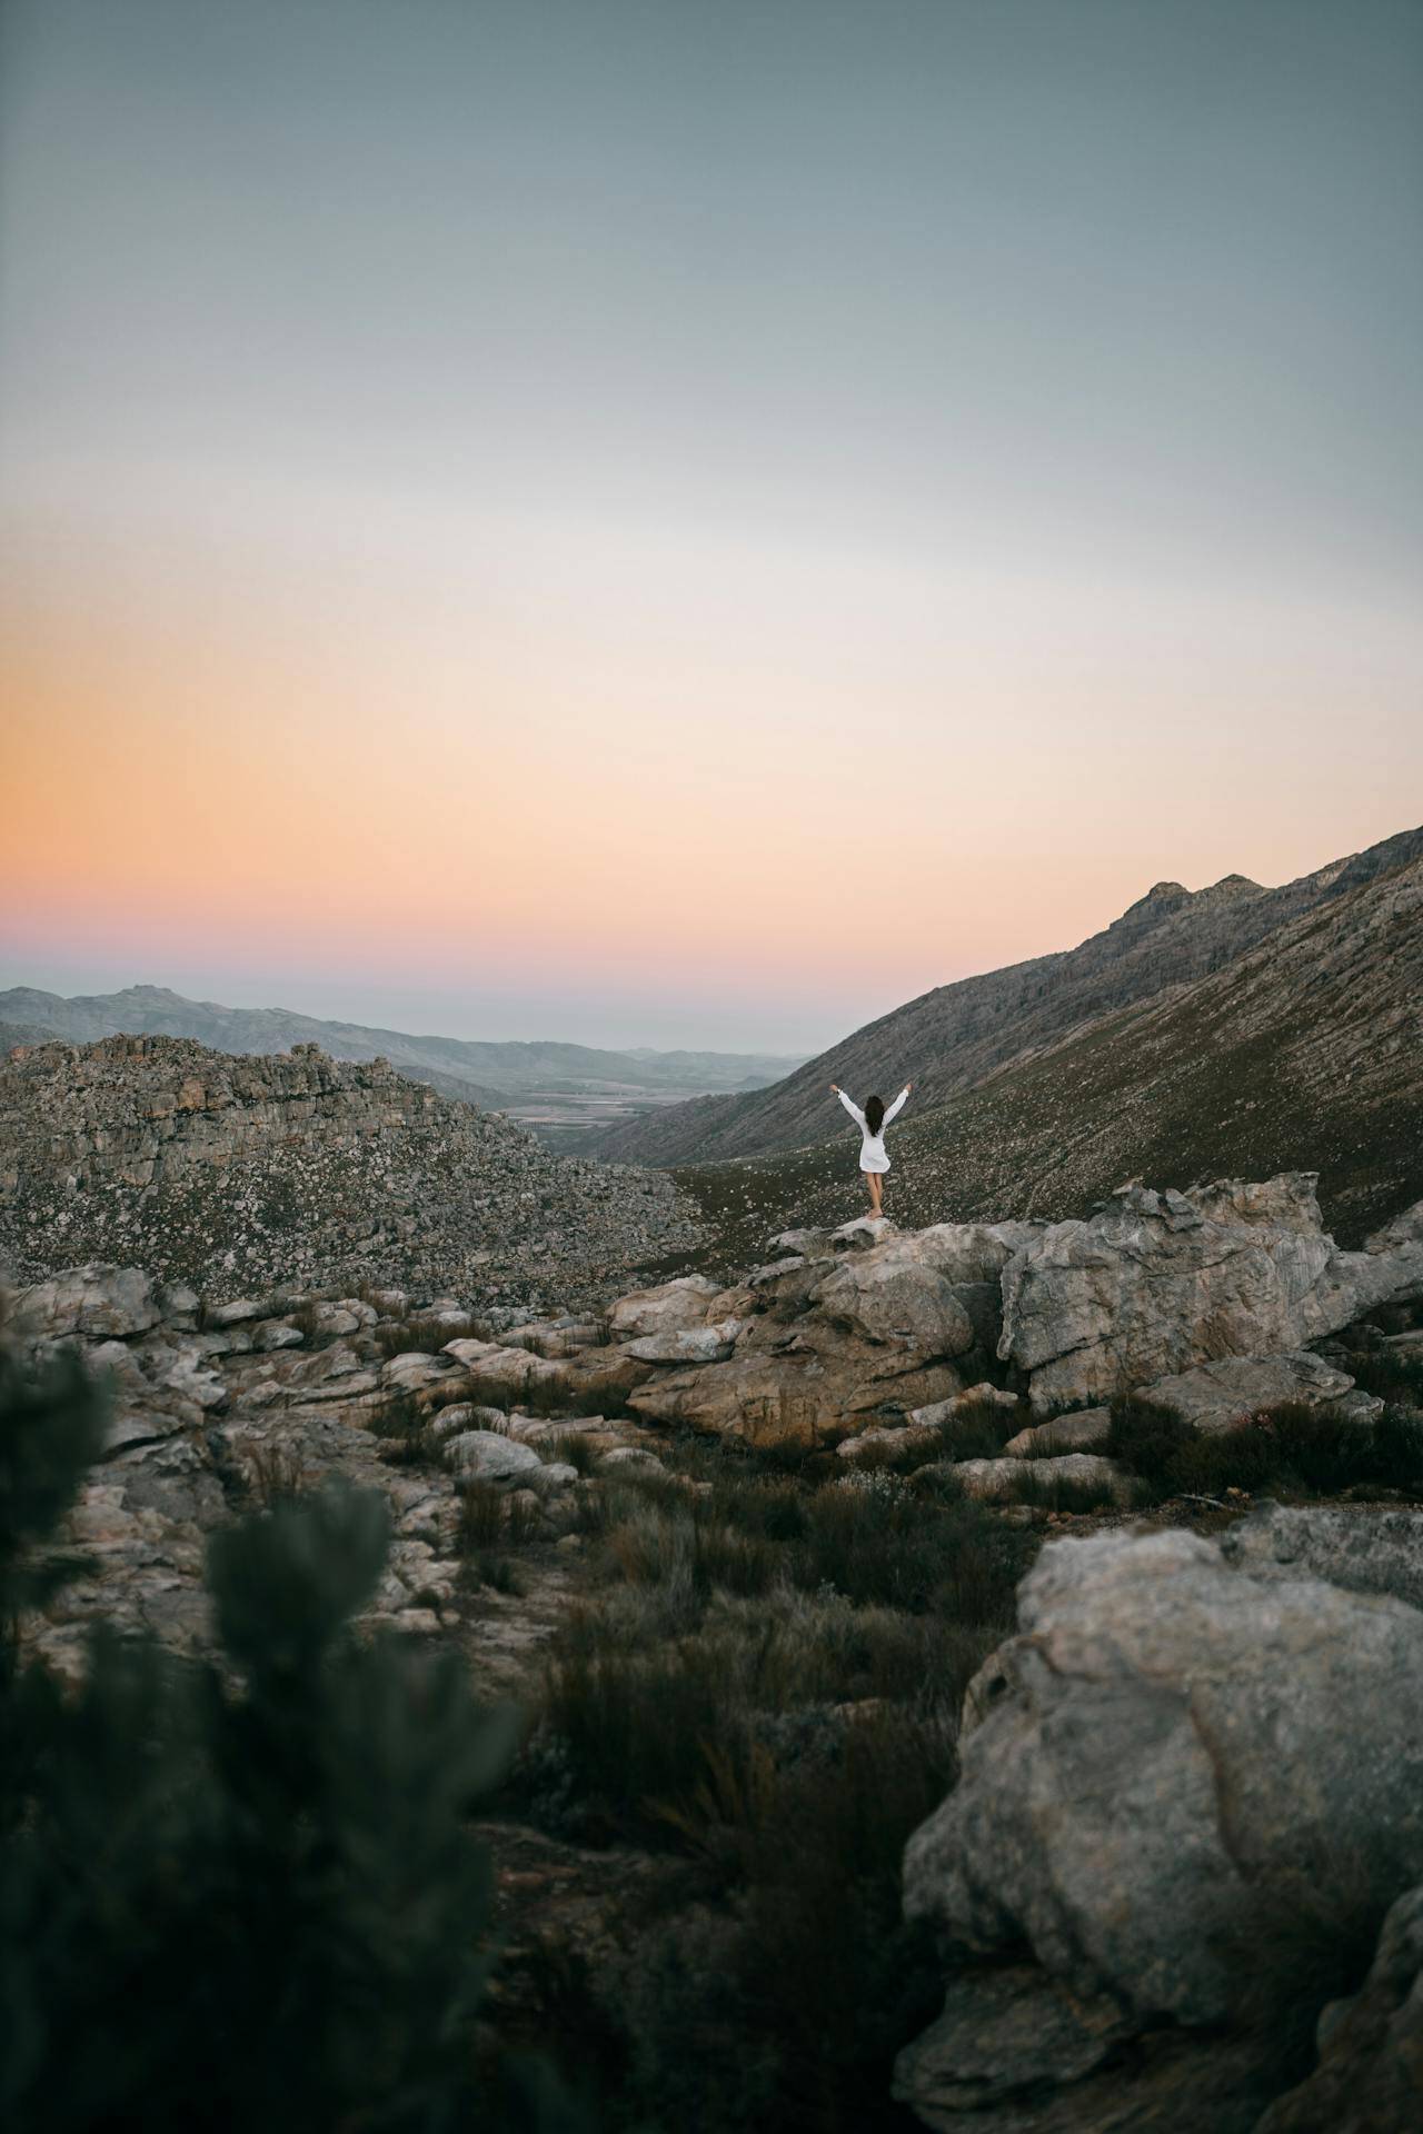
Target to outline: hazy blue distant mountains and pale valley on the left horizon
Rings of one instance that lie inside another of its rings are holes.
[[[0,992],[0,1048],[92,1044],[98,1037],[196,1037],[215,1052],[286,1052],[316,1044],[343,1061],[388,1058],[401,1073],[446,1097],[503,1110],[555,1137],[589,1120],[638,1105],[674,1103],[706,1090],[749,1090],[779,1080],[794,1061],[762,1052],[604,1052],[555,1041],[489,1044],[465,1037],[412,1037],[361,1022],[326,1022],[288,1007],[224,1007],[188,1001],[166,986],[122,992]]]

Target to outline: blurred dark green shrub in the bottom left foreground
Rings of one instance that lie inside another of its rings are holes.
[[[43,1547],[96,1440],[75,1366],[0,1361],[11,1615],[53,1583]],[[62,1694],[6,1647],[15,2134],[555,2123],[538,2085],[508,2089],[476,2051],[491,1874],[467,1816],[512,1720],[471,1703],[454,1656],[352,1635],[386,1547],[378,1494],[279,1502],[211,1541],[218,1660],[100,1626]]]

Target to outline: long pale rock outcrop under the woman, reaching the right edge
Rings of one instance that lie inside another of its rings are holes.
[[[1408,1216],[1376,1251],[1340,1253],[1312,1174],[1193,1195],[1129,1187],[1084,1223],[858,1219],[781,1231],[770,1251],[736,1289],[683,1276],[612,1306],[619,1353],[646,1366],[627,1387],[634,1413],[813,1445],[905,1419],[939,1430],[960,1400],[1011,1411],[1018,1387],[1039,1415],[1092,1404],[1020,1432],[1009,1458],[1099,1451],[1122,1391],[1201,1430],[1282,1402],[1365,1421],[1380,1402],[1304,1342],[1423,1278]],[[986,1385],[990,1372],[1009,1385]]]

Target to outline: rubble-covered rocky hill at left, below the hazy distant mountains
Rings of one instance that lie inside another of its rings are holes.
[[[576,1300],[693,1238],[666,1178],[553,1157],[384,1061],[169,1037],[0,1061],[0,1263],[21,1280],[117,1257],[215,1300],[363,1276]]]

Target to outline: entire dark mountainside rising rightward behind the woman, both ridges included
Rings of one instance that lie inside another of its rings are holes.
[[[1067,1216],[1131,1176],[1316,1169],[1353,1240],[1423,1193],[1423,830],[1284,888],[1158,881],[1075,950],[941,986],[772,1088],[585,1148],[676,1167],[749,1236],[847,1214],[860,1180],[832,1080],[860,1099],[915,1084],[892,1129],[898,1221]]]

